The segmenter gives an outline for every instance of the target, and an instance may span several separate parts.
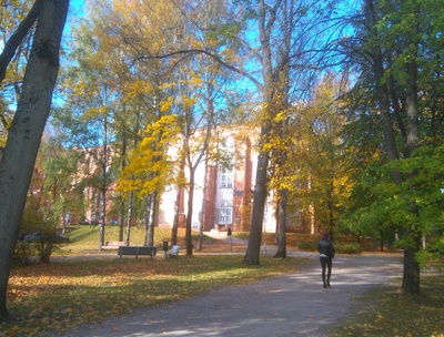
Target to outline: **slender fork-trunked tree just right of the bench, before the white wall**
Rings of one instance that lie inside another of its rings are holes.
[[[224,72],[219,62],[198,50],[215,53],[223,49],[216,31],[222,25],[221,14],[226,6],[223,1],[204,2],[198,8],[188,2],[180,7],[173,4],[171,1],[159,1],[155,4],[127,3],[124,7],[114,3],[104,8],[110,13],[108,31],[120,37],[127,54],[137,60],[139,67],[148,69],[147,67],[155,64],[162,70],[158,80],[150,79],[150,83],[157,88],[155,104],[163,106],[162,111],[158,110],[160,113],[153,115],[151,123],[161,120],[165,114],[181,116],[182,149],[179,153],[182,159],[179,162],[183,162],[189,173],[189,182],[182,187],[188,190],[189,195],[186,251],[192,254],[194,172],[205,155],[213,125],[214,102],[219,100],[218,96],[222,96],[224,85]],[[170,19],[167,20],[165,16]],[[231,58],[231,50],[224,50],[223,53],[225,59]],[[202,130],[205,130],[203,136]]]

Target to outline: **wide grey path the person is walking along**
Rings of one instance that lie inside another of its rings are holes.
[[[272,254],[272,248],[268,249]],[[213,290],[154,308],[138,309],[100,325],[84,325],[64,336],[327,336],[336,323],[365,303],[372,287],[402,276],[400,255],[337,255],[332,287],[324,289],[317,254],[303,269],[244,287]]]

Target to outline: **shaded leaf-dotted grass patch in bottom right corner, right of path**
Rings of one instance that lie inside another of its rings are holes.
[[[422,274],[422,295],[408,296],[391,286],[365,294],[361,310],[342,321],[331,336],[443,337],[444,275]]]

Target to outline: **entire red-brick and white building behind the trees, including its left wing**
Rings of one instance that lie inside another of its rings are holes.
[[[203,159],[195,171],[195,187],[193,196],[192,228],[203,231],[220,229],[226,231],[229,227],[234,232],[249,232],[251,222],[251,210],[253,203],[253,191],[258,164],[258,132],[246,127],[219,129],[214,131],[218,136],[218,149],[223,152],[224,160],[222,165],[214,159]],[[109,147],[111,149],[111,147]],[[99,149],[101,151],[101,149]],[[170,155],[176,157],[175,147],[172,147]],[[109,159],[113,156],[113,151],[109,151]],[[103,168],[92,163],[91,155],[87,155],[84,163],[80,166],[83,171],[82,176],[93,176],[103,174]],[[229,163],[229,165],[226,165]],[[107,166],[108,170],[108,166]],[[189,170],[184,167],[184,175],[189,177]],[[107,192],[107,224],[117,224],[119,218],[115,213],[117,207],[112,205],[112,193],[115,182],[108,182]],[[102,193],[98,187],[87,186],[84,197],[88,201],[83,217],[72,216],[72,223],[97,223],[101,222],[103,201]],[[174,186],[165,188],[160,196],[160,204],[155,225],[160,227],[172,227],[175,216],[178,191]],[[179,227],[185,227],[188,214],[188,190],[182,187],[179,205]],[[110,211],[112,213],[110,213]],[[301,212],[297,205],[289,207],[287,231],[315,233],[313,210]],[[134,224],[143,219],[133,219]],[[264,210],[264,231],[274,233],[276,231],[275,205],[273,203],[273,191],[269,193]]]

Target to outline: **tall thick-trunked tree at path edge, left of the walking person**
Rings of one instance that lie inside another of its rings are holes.
[[[269,192],[269,162],[273,156],[275,167],[285,166],[285,146],[273,149],[273,134],[285,131],[287,123],[287,110],[292,104],[304,98],[301,83],[312,83],[316,79],[311,68],[320,68],[322,50],[330,37],[323,32],[329,22],[331,13],[334,12],[333,2],[311,1],[306,3],[282,0],[282,1],[240,1],[240,12],[244,13],[243,44],[245,55],[249,57],[260,75],[252,72],[252,80],[261,95],[262,109],[258,115],[261,121],[261,136],[259,144],[259,159],[255,175],[253,210],[251,219],[251,233],[244,262],[259,264],[260,245],[262,236],[262,223],[264,218],[265,201]],[[242,16],[240,16],[242,18]],[[254,30],[255,33],[251,33]],[[324,37],[319,38],[319,37]],[[325,53],[324,53],[325,55]],[[310,60],[310,61],[309,61]],[[249,64],[244,62],[244,64]],[[251,67],[251,65],[249,65]],[[297,71],[296,71],[297,70]],[[304,73],[304,82],[299,82]],[[245,69],[243,72],[245,73]],[[306,90],[306,88],[305,88]],[[286,115],[285,115],[286,114]],[[278,142],[279,143],[279,142]],[[274,152],[273,152],[274,151]],[[285,184],[275,183],[279,190],[279,203],[282,215],[282,225],[285,226]],[[280,217],[281,218],[281,217]],[[285,255],[285,238],[282,232],[280,255]]]

